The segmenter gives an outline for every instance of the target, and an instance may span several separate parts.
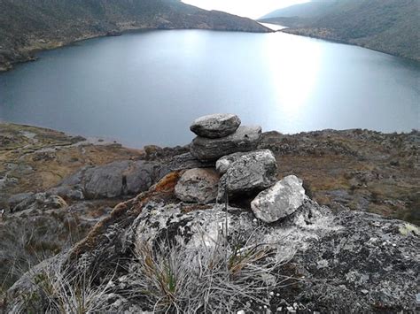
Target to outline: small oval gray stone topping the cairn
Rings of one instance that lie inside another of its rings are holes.
[[[217,139],[235,133],[240,125],[237,115],[216,113],[195,119],[190,129],[198,136]]]

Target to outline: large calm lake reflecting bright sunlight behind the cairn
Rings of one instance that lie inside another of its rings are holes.
[[[131,147],[191,142],[214,112],[284,134],[419,128],[420,65],[292,34],[137,31],[38,57],[0,74],[0,121]]]

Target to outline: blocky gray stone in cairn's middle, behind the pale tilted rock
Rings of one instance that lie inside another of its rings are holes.
[[[271,150],[263,149],[247,153],[229,165],[219,183],[218,200],[260,192],[276,183],[277,163]]]

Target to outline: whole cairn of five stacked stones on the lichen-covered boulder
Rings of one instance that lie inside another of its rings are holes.
[[[175,195],[185,203],[225,203],[253,199],[254,215],[266,223],[285,218],[303,203],[305,189],[294,175],[277,180],[276,157],[258,149],[261,126],[241,126],[234,114],[213,114],[192,122],[197,137],[191,155],[212,168],[183,172]]]

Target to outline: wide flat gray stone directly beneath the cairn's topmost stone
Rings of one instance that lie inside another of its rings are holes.
[[[261,138],[261,126],[239,126],[237,132],[220,139],[198,136],[191,143],[191,154],[199,160],[216,160],[238,151],[256,149]]]

